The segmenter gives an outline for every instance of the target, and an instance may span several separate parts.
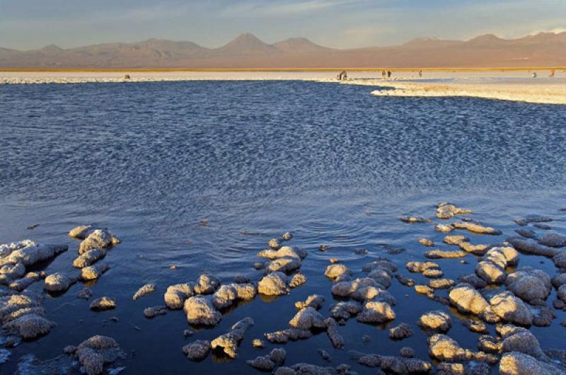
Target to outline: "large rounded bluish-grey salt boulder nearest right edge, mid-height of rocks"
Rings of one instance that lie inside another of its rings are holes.
[[[519,268],[507,276],[505,285],[516,296],[527,302],[546,299],[552,289],[550,277],[542,270],[535,270],[532,267]]]

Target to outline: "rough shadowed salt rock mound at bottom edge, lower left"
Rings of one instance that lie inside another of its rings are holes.
[[[112,337],[96,335],[81,342],[75,355],[86,374],[98,375],[103,373],[105,364],[114,362],[124,354]]]

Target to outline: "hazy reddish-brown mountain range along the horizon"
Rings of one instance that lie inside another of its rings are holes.
[[[149,39],[62,49],[0,48],[0,68],[52,69],[245,69],[245,68],[466,68],[564,67],[566,32],[538,33],[518,39],[480,35],[473,39],[424,37],[403,45],[350,50],[316,45],[302,37],[272,45],[250,33],[219,48],[193,42]]]

